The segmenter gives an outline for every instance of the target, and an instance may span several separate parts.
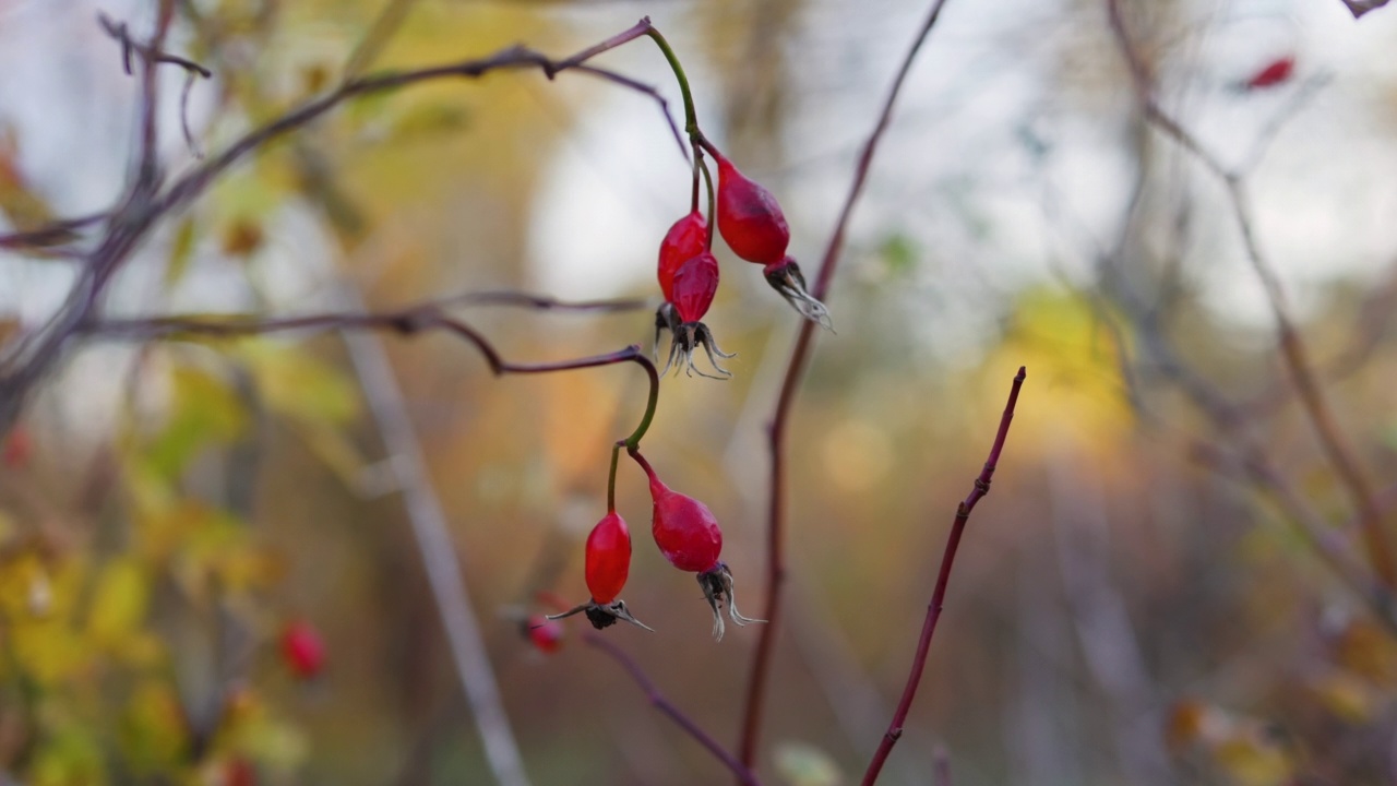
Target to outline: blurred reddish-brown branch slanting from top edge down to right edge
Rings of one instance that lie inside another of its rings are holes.
[[[1315,373],[1313,364],[1301,338],[1299,330],[1288,313],[1285,292],[1281,288],[1280,277],[1270,260],[1261,253],[1252,225],[1250,208],[1246,203],[1243,189],[1243,173],[1227,168],[1222,161],[1197,137],[1185,129],[1160,105],[1154,95],[1154,83],[1140,53],[1134,49],[1125,20],[1120,14],[1120,0],[1106,0],[1106,13],[1111,20],[1111,29],[1115,34],[1120,52],[1130,69],[1136,95],[1139,97],[1148,122],[1162,130],[1165,136],[1175,140],[1183,150],[1189,151],[1204,168],[1215,175],[1227,189],[1228,203],[1236,221],[1238,232],[1242,236],[1248,260],[1256,271],[1257,278],[1266,291],[1267,303],[1275,319],[1277,338],[1280,340],[1281,358],[1289,372],[1291,383],[1301,399],[1305,414],[1319,438],[1324,456],[1334,467],[1336,474],[1348,491],[1354,508],[1362,526],[1363,538],[1368,547],[1368,559],[1377,573],[1379,580],[1389,590],[1397,589],[1397,564],[1393,562],[1391,544],[1383,526],[1383,515],[1379,509],[1372,485],[1368,481],[1352,448],[1348,445],[1334,413],[1329,406],[1324,392]]]

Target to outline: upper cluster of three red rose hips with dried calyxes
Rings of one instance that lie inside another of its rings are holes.
[[[791,245],[791,229],[787,227],[781,206],[760,183],[745,176],[708,140],[696,134],[694,144],[694,200],[689,214],[675,221],[665,239],[659,243],[659,291],[665,295],[664,305],[655,313],[655,344],[659,333],[669,330],[669,365],[683,365],[686,372],[698,371],[693,364],[693,352],[703,347],[712,368],[724,376],[732,376],[718,365],[718,358],[732,355],[718,348],[712,331],[701,320],[718,294],[718,259],[712,255],[712,231],[698,210],[698,171],[705,175],[703,151],[718,161],[717,213],[718,232],[726,241],[732,253],[747,262],[761,264],[767,284],[781,294],[802,316],[830,327],[828,310],[806,291],[805,276],[795,259],[787,255]],[[711,187],[711,186],[710,186]]]

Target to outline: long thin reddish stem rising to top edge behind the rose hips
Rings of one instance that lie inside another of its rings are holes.
[[[907,80],[907,74],[912,69],[912,60],[916,57],[918,50],[921,50],[922,42],[926,41],[928,34],[932,32],[932,27],[940,17],[942,7],[944,4],[946,0],[932,1],[932,8],[926,14],[926,20],[922,22],[921,29],[912,39],[912,46],[907,50],[907,55],[902,57],[902,64],[898,67],[897,76],[893,78],[893,85],[888,88],[887,98],[883,101],[883,109],[879,112],[877,123],[873,126],[873,131],[869,134],[868,141],[863,143],[863,151],[861,152],[858,166],[854,171],[854,182],[849,185],[849,193],[844,199],[844,207],[840,210],[840,217],[834,224],[834,232],[830,236],[830,242],[824,248],[824,257],[820,263],[820,271],[814,280],[814,288],[810,290],[810,295],[817,301],[826,301],[828,295],[830,283],[834,280],[834,270],[840,260],[840,252],[844,250],[844,231],[848,227],[849,217],[854,214],[854,206],[858,201],[859,194],[863,192],[863,183],[873,165],[873,154],[877,151],[879,141],[882,141],[883,133],[887,130],[888,122],[891,120],[893,105],[897,102],[898,92],[902,90],[902,83]],[[787,422],[791,418],[792,406],[795,404],[796,389],[800,385],[800,379],[805,375],[805,366],[810,358],[810,347],[814,343],[814,322],[800,322],[800,331],[796,337],[795,348],[791,351],[791,361],[787,364],[785,379],[781,383],[781,393],[777,396],[775,411],[771,415],[771,425],[767,431],[768,449],[771,452],[771,498],[767,508],[767,600],[761,617],[767,620],[768,624],[761,628],[761,636],[757,639],[757,649],[752,656],[752,671],[747,678],[746,709],[743,710],[742,719],[742,745],[739,755],[742,758],[742,764],[749,768],[757,758],[757,744],[761,731],[761,712],[766,702],[767,680],[771,673],[771,655],[775,649],[777,631],[781,621],[781,589],[785,582],[785,431]]]

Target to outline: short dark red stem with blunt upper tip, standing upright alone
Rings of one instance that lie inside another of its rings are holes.
[[[912,670],[907,674],[907,685],[902,688],[902,698],[897,702],[897,709],[893,712],[893,722],[888,723],[887,733],[883,734],[883,741],[873,754],[873,761],[869,762],[868,771],[863,772],[863,786],[872,786],[877,780],[879,772],[883,769],[883,762],[887,761],[887,755],[893,752],[893,745],[902,736],[902,724],[907,723],[907,713],[912,709],[912,699],[916,698],[916,685],[922,681],[922,671],[926,669],[926,653],[932,648],[936,622],[942,618],[942,606],[946,601],[946,585],[951,578],[956,550],[960,547],[961,534],[965,531],[965,522],[970,520],[970,512],[975,509],[977,502],[989,494],[989,481],[995,474],[995,467],[999,464],[999,455],[1004,449],[1004,438],[1009,436],[1009,424],[1014,420],[1014,406],[1018,404],[1018,389],[1023,387],[1025,376],[1025,369],[1020,366],[1018,375],[1014,376],[1014,383],[1009,389],[1009,401],[1004,404],[1004,414],[999,420],[999,432],[995,435],[995,445],[989,449],[989,459],[985,460],[985,469],[975,478],[975,485],[971,488],[970,496],[956,508],[956,519],[951,522],[951,533],[946,540],[946,551],[942,552],[942,569],[936,576],[936,589],[932,590],[932,601],[926,606],[922,638],[918,639],[916,653],[912,656]]]

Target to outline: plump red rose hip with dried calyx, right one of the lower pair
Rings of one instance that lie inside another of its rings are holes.
[[[693,496],[665,485],[640,452],[633,450],[631,457],[650,477],[650,495],[655,505],[651,523],[655,545],[675,568],[698,573],[698,586],[703,587],[704,600],[712,608],[714,639],[722,641],[722,606],[728,607],[728,617],[739,627],[763,622],[743,617],[738,611],[732,572],[718,559],[722,554],[722,527],[718,526],[712,510]]]

